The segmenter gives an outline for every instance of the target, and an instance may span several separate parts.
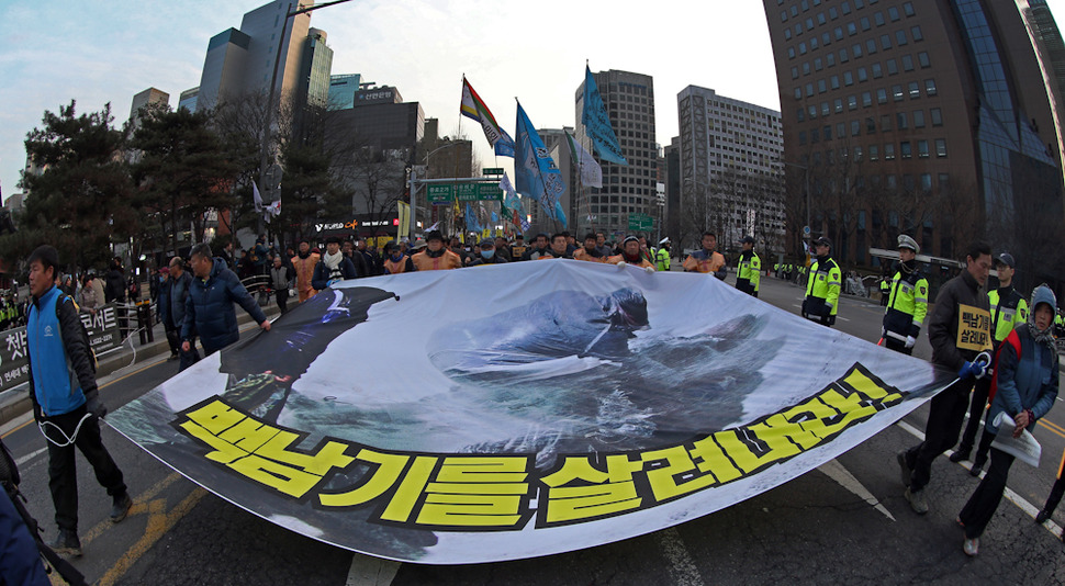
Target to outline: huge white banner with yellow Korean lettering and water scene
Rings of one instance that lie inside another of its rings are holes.
[[[109,422],[293,531],[456,564],[714,512],[952,381],[708,275],[556,260],[346,281]]]

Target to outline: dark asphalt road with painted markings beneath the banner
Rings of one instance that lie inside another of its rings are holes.
[[[801,295],[795,285],[763,280],[762,301],[785,311],[797,313]],[[844,298],[837,327],[875,340],[881,315],[876,305]],[[922,337],[916,356],[930,353]],[[102,395],[115,409],[176,370],[165,361],[134,365],[101,380]],[[1011,493],[976,559],[962,553],[954,522],[977,484],[963,465],[935,462],[927,516],[910,511],[901,496],[895,453],[919,441],[915,433],[923,430],[926,414],[927,407],[916,410],[818,471],[672,529],[567,554],[466,566],[383,562],[281,529],[197,487],[104,426],[135,505],[112,525],[110,499],[79,459],[85,555],[74,563],[102,585],[1065,583],[1060,526],[1032,521],[1065,450],[1065,407],[1035,431],[1041,466],[1012,467]],[[3,433],[19,459],[30,510],[51,538],[44,440],[24,421]],[[1065,508],[1054,521],[1065,522]]]

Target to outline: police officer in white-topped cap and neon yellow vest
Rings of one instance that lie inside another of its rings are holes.
[[[898,237],[898,272],[888,289],[884,314],[884,346],[904,354],[913,353],[913,345],[928,315],[928,279],[917,266],[921,247],[909,236]]]

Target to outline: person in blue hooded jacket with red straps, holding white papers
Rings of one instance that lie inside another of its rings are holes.
[[[996,417],[1009,415],[1014,422],[1012,436],[1035,428],[1035,421],[1046,415],[1057,399],[1057,348],[1054,345],[1054,314],[1057,300],[1046,285],[1032,292],[1032,313],[1028,322],[1011,330],[995,361],[995,390],[985,429],[997,435]],[[979,538],[998,509],[1006,491],[1006,478],[1014,457],[994,446],[991,465],[976,492],[962,508],[957,519],[965,526],[962,549],[976,555]]]

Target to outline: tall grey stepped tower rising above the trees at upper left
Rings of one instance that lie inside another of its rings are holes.
[[[313,4],[313,0],[298,2],[299,8]],[[325,33],[311,34],[310,13],[285,19],[289,5],[277,0],[266,3],[246,13],[239,30],[211,38],[200,77],[199,108],[213,108],[227,95],[269,93],[274,61],[274,91],[282,103],[304,97],[321,103],[328,100],[333,52],[325,46]]]

